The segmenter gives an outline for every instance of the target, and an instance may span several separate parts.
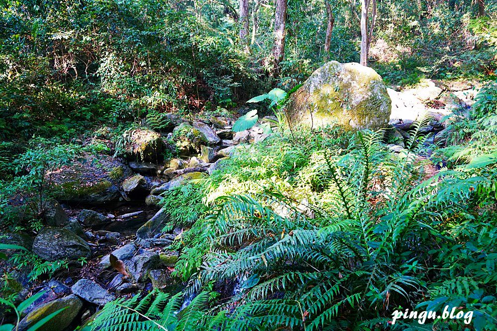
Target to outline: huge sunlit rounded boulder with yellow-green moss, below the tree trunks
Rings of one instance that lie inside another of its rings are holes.
[[[291,95],[287,114],[292,125],[345,130],[381,129],[388,124],[391,100],[381,76],[357,63],[331,61]]]

